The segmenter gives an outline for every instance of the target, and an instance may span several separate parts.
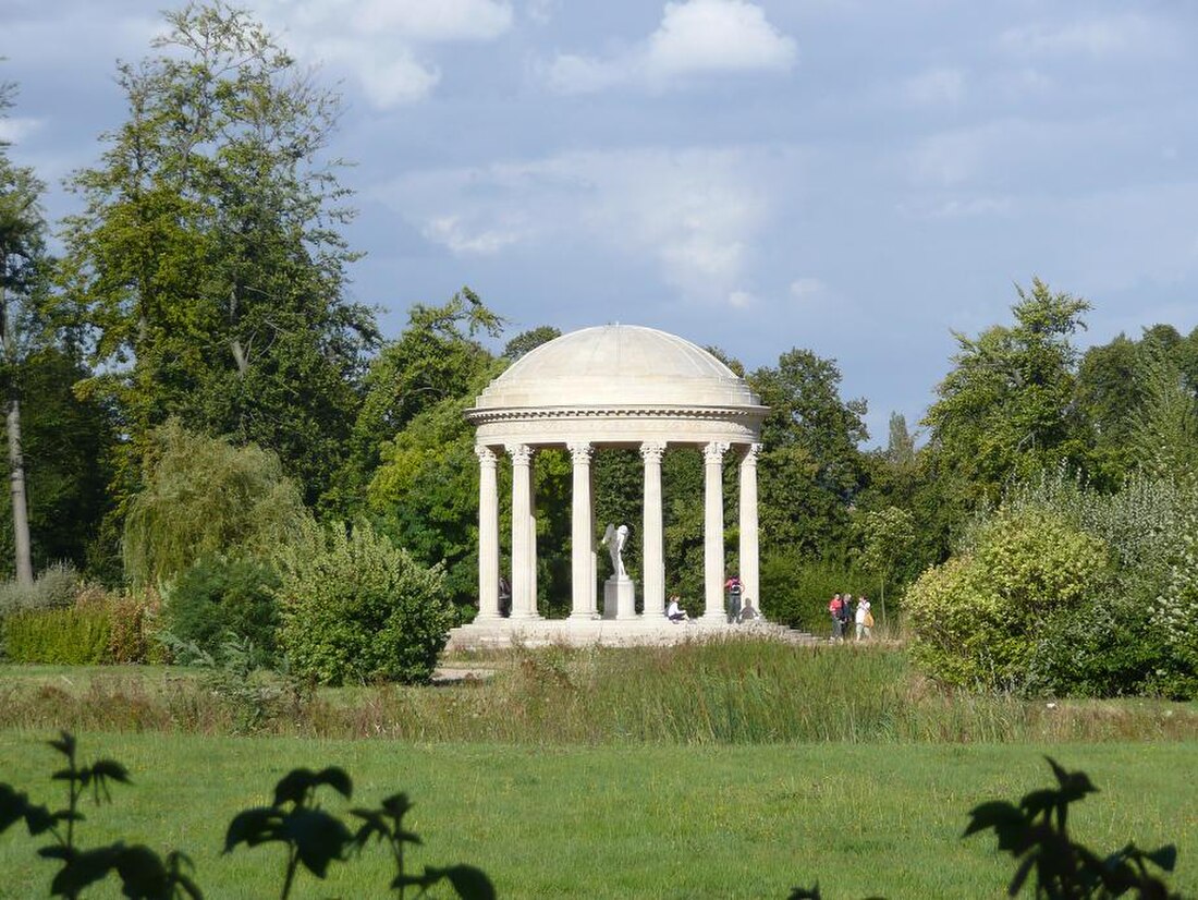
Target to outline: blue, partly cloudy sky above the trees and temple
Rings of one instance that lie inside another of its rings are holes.
[[[0,0],[10,156],[61,188],[159,2]],[[1188,0],[247,0],[346,109],[331,152],[397,336],[470,285],[512,325],[647,325],[750,369],[834,358],[914,427],[954,331],[1040,277],[1083,346],[1198,326]]]

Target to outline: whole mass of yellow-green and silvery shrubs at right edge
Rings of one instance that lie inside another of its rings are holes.
[[[1196,542],[1193,487],[1025,484],[908,591],[912,651],[957,684],[1198,696]]]

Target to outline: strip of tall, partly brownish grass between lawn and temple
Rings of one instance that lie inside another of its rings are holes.
[[[1029,701],[946,691],[895,648],[762,640],[674,647],[513,648],[494,677],[432,688],[321,690],[265,709],[266,733],[509,744],[1005,743],[1196,739],[1198,707]],[[0,726],[230,733],[244,709],[179,670],[85,683],[0,678]],[[42,670],[43,672],[46,670]]]

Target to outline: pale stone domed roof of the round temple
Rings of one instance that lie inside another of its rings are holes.
[[[758,406],[727,366],[689,340],[637,325],[563,334],[518,360],[476,409]]]

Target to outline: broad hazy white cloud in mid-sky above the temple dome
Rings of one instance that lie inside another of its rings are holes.
[[[772,163],[793,164],[736,149],[585,151],[418,173],[380,197],[456,254],[598,247],[651,262],[684,297],[737,306],[752,300],[744,280],[772,215]]]

